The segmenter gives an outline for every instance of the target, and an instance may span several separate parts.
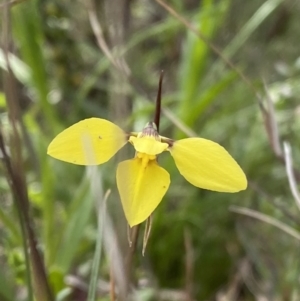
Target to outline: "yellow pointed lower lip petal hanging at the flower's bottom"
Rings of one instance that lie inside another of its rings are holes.
[[[150,216],[170,185],[170,175],[156,160],[148,164],[142,164],[142,160],[136,157],[123,161],[117,169],[117,185],[130,227]]]

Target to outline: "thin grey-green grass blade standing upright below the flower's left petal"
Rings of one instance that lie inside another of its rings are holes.
[[[95,249],[95,254],[93,259],[93,266],[92,266],[92,273],[91,273],[91,280],[89,285],[87,301],[96,300],[98,272],[99,272],[99,265],[101,260],[102,241],[103,241],[103,228],[105,223],[106,201],[110,195],[110,192],[111,192],[110,189],[107,190],[103,200],[101,201],[102,204],[99,206],[98,209],[96,249]]]

